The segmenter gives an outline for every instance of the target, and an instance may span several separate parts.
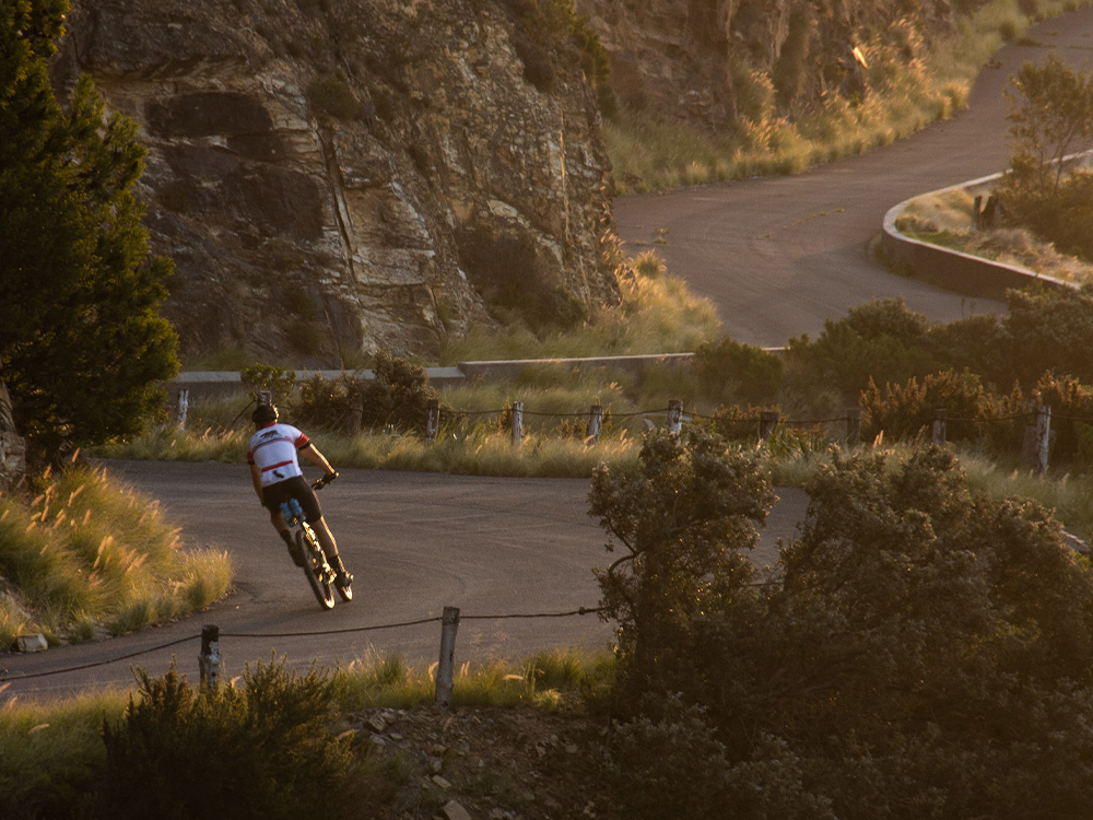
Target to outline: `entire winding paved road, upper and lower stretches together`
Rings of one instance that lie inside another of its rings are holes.
[[[1088,69],[1093,11],[1041,23],[1029,39],[1038,45],[999,51],[969,109],[949,121],[799,176],[622,198],[620,235],[635,248],[666,232],[668,244],[657,247],[670,270],[714,301],[729,335],[753,344],[814,335],[827,317],[878,296],[902,294],[935,320],[998,311],[1003,306],[889,273],[868,246],[893,204],[1003,167],[1008,78],[1049,49]],[[591,569],[609,558],[587,516],[587,481],[343,470],[320,497],[356,575],[355,600],[324,612],[258,507],[245,466],[111,461],[108,469],[158,499],[187,543],[226,550],[238,586],[209,611],[165,626],[0,657],[0,702],[131,688],[130,665],[160,675],[173,657],[196,679],[203,624],[221,629],[225,677],[274,654],[294,667],[374,653],[428,664],[438,656],[445,606],[463,616],[457,664],[553,646],[599,648],[611,639],[610,625],[591,614],[512,617],[597,605]],[[777,539],[791,536],[803,514],[803,493],[780,494],[760,563],[773,561]]]

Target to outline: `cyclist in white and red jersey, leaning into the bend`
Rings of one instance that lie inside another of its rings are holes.
[[[327,560],[336,573],[334,583],[342,589],[349,588],[353,576],[346,572],[341,555],[338,554],[338,544],[322,518],[319,500],[304,480],[297,454],[303,453],[307,460],[321,468],[328,481],[336,479],[338,473],[303,432],[291,424],[278,423],[278,409],[273,405],[259,405],[250,418],[255,422],[255,434],[247,445],[247,464],[250,465],[255,492],[262,506],[269,511],[273,528],[289,546],[292,560],[297,566],[303,566],[304,557],[299,554],[289,526],[281,516],[281,504],[289,499],[296,499],[304,511],[304,518],[312,525],[327,553]]]

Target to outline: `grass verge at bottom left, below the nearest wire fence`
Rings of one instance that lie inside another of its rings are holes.
[[[465,664],[455,678],[453,706],[526,705],[554,710],[561,705],[595,703],[609,689],[614,667],[614,657],[606,652],[590,655],[567,649],[508,663]],[[331,681],[327,690],[331,712],[431,708],[435,699],[435,664],[427,668],[410,667],[398,656],[377,656],[318,671]],[[286,686],[298,686],[298,680],[293,679]],[[0,817],[30,820],[97,816],[96,796],[108,786],[104,783],[108,768],[103,723],[118,726],[131,696],[127,691],[108,690],[49,702],[7,701],[0,707]],[[270,712],[262,714],[261,721],[280,719],[278,711],[286,710],[284,701],[291,700],[268,699],[265,708]],[[200,719],[208,717],[208,713],[199,711],[189,717],[195,716]],[[231,725],[228,718],[230,715],[224,718],[226,726]],[[174,742],[195,742],[186,719],[189,718],[180,718],[173,727],[177,731]],[[334,723],[330,731],[342,728],[343,724]],[[353,748],[357,753],[356,775],[367,781],[357,785],[373,795],[393,797],[391,789],[404,783],[415,769],[412,761],[407,765],[404,759],[388,755],[377,763],[369,757],[366,743]],[[287,750],[275,746],[269,749],[270,754],[282,751]],[[171,774],[162,772],[168,781]],[[238,772],[216,774],[230,781],[249,776],[251,772],[240,765]]]

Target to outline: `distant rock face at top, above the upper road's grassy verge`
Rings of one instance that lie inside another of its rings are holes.
[[[709,131],[792,116],[858,90],[856,46],[919,57],[982,0],[576,0],[610,57],[621,106]],[[763,112],[766,109],[766,112]]]

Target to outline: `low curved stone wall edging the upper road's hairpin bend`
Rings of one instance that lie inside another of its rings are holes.
[[[929,194],[920,194],[913,199],[944,194],[954,189],[988,189],[999,177],[1001,174],[994,174]],[[884,251],[884,257],[897,271],[954,293],[983,298],[1004,300],[1007,290],[1026,288],[1034,282],[1048,288],[1077,289],[1078,285],[1072,282],[1041,276],[1027,268],[1003,265],[969,254],[962,254],[940,245],[931,245],[920,239],[913,239],[901,233],[895,226],[896,219],[912,201],[912,199],[907,199],[884,214],[881,248]]]

